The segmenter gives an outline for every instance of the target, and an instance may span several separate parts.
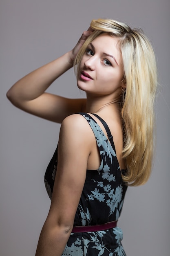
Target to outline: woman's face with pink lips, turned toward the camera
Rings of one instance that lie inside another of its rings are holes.
[[[118,38],[101,34],[88,45],[79,65],[77,85],[86,93],[119,97],[124,69]]]

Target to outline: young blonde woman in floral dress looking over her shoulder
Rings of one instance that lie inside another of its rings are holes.
[[[73,64],[86,99],[46,93]],[[61,123],[36,256],[126,255],[117,220],[127,186],[150,176],[156,83],[155,55],[142,31],[98,19],[73,50],[7,92],[18,108]]]

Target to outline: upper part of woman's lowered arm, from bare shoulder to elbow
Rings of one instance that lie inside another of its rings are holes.
[[[67,117],[62,123],[58,144],[58,165],[49,218],[57,225],[71,226],[86,179],[90,154],[89,130],[80,115]]]

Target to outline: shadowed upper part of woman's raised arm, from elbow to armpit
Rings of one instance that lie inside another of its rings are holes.
[[[38,98],[24,103],[15,103],[16,107],[38,117],[62,123],[65,117],[76,112],[83,112],[86,99],[68,99],[44,92]]]

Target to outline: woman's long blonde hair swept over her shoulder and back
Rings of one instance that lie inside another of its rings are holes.
[[[124,65],[126,92],[121,99],[124,128],[123,157],[126,173],[122,179],[130,186],[146,183],[150,177],[153,158],[154,99],[157,87],[155,54],[141,29],[111,19],[92,20],[93,33],[82,45],[75,58],[79,63],[87,46],[100,34],[107,32],[119,38]]]

